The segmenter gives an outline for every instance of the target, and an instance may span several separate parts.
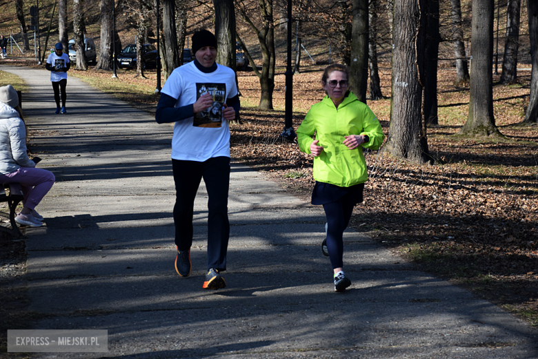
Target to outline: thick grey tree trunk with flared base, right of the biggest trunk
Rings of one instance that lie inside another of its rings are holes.
[[[494,0],[472,0],[469,115],[460,135],[500,135],[493,115]]]

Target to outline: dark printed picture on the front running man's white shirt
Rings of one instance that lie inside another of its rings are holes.
[[[221,127],[222,110],[226,98],[226,84],[196,84],[196,99],[209,93],[213,97],[213,103],[207,110],[196,114],[192,126],[195,127]]]

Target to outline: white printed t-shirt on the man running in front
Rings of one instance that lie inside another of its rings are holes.
[[[161,90],[177,99],[176,107],[194,104],[205,93],[213,104],[203,113],[177,121],[172,137],[172,159],[203,162],[212,157],[230,157],[230,128],[222,118],[226,99],[237,95],[235,72],[217,64],[217,70],[204,73],[195,62],[176,68]]]

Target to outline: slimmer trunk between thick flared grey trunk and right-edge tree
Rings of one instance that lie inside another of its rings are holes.
[[[517,81],[517,51],[519,50],[519,17],[521,0],[508,1],[506,20],[506,41],[504,45],[501,84]]]

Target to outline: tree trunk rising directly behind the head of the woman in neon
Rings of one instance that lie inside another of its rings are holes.
[[[368,0],[352,0],[350,85],[366,104],[368,88]]]

